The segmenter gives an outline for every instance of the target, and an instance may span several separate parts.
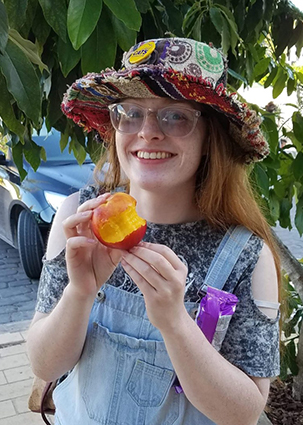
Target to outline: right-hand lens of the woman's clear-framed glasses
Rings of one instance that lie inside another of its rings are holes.
[[[184,137],[194,129],[197,122],[197,111],[183,108],[164,108],[159,110],[158,119],[165,134]]]

